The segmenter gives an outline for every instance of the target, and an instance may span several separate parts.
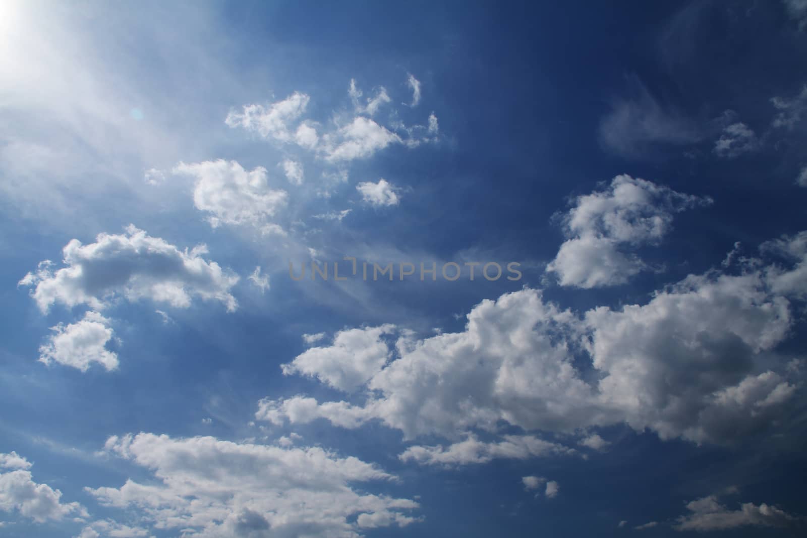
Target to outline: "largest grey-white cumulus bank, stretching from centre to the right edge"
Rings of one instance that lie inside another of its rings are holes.
[[[663,224],[651,219],[645,227]],[[800,369],[776,348],[793,325],[788,297],[807,290],[807,233],[771,248],[790,252],[796,268],[757,259],[740,274],[690,275],[644,304],[582,314],[525,288],[479,303],[463,331],[422,340],[401,327],[359,329],[355,336],[373,337],[352,340],[349,351],[316,348],[302,371],[357,398],[266,398],[256,418],[348,428],[380,421],[406,440],[441,436],[452,444],[412,446],[402,455],[441,465],[529,457],[534,451],[524,443],[540,440],[533,432],[579,435],[619,423],[663,440],[731,444],[788,423],[801,386]],[[390,334],[375,337],[382,332]],[[362,352],[372,360],[345,373],[345,358]],[[500,434],[503,426],[529,435],[516,442]],[[480,440],[475,431],[498,437]],[[607,446],[583,435],[582,446]]]

